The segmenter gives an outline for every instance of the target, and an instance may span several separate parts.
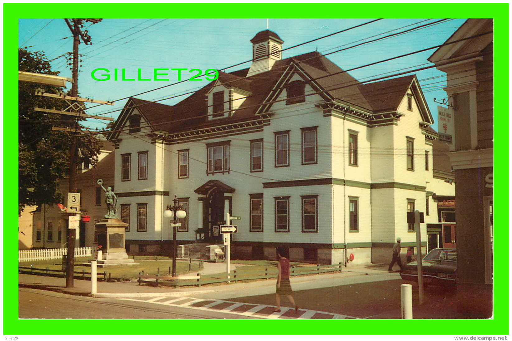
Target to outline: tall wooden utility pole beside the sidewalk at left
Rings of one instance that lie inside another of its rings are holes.
[[[72,77],[73,77],[73,85],[71,86],[71,96],[78,97],[78,45],[80,45],[80,37],[84,44],[88,44],[91,42],[91,37],[87,34],[87,31],[82,32],[80,30],[80,26],[83,21],[92,22],[96,24],[100,22],[101,19],[64,19],[66,20],[66,24],[73,34],[73,67],[72,67]],[[76,118],[73,119],[73,123],[71,125],[72,129],[78,130],[78,121]],[[71,142],[71,147],[69,150],[69,193],[76,193],[77,191],[77,171],[78,171],[78,138],[77,135],[74,134]],[[76,215],[76,213],[69,213],[70,216]],[[69,223],[69,219],[68,219]],[[67,235],[67,244],[68,244],[68,264],[66,267],[66,288],[72,288],[74,286],[74,271],[75,271],[75,238],[76,238],[76,229],[69,228],[68,226],[68,235]]]

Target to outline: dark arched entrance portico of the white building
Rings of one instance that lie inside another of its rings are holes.
[[[202,203],[199,226],[202,227],[204,239],[209,242],[222,242],[218,228],[224,224],[226,213],[231,213],[234,188],[218,180],[209,180],[195,192],[200,195],[198,200]]]

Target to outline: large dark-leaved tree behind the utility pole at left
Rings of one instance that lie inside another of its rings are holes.
[[[41,51],[18,50],[19,71],[57,75]],[[54,131],[52,126],[65,126],[74,116],[35,111],[34,108],[64,110],[65,101],[36,95],[61,93],[62,88],[32,82],[18,82],[18,213],[28,205],[62,202],[59,180],[69,176],[69,132]],[[81,127],[81,126],[80,126]],[[98,161],[101,141],[96,135],[82,134],[78,138],[81,159],[94,166]]]

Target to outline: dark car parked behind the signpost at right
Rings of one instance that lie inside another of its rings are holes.
[[[433,249],[423,257],[421,264],[424,285],[455,286],[457,284],[456,249]],[[418,282],[418,262],[404,265],[400,275],[403,280]]]

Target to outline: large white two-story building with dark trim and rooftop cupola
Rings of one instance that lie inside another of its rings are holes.
[[[283,44],[269,30],[251,42],[249,69],[176,105],[126,102],[109,139],[128,252],[169,253],[175,196],[180,244],[222,243],[225,214],[241,217],[234,257],[283,246],[292,260],[380,263],[397,237],[416,245],[406,212],[454,194],[433,177],[437,133],[416,76],[361,83],[317,52],[269,56]]]

